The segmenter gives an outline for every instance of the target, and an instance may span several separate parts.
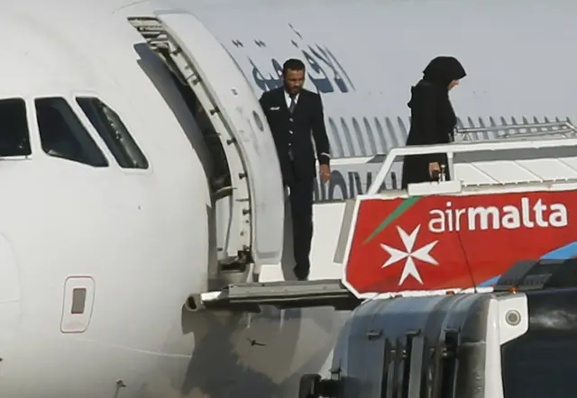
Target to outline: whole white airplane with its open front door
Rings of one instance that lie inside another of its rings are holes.
[[[305,60],[307,87],[325,104],[334,171],[319,185],[310,278],[339,278],[339,199],[403,145],[409,88],[426,62],[439,53],[463,61],[468,77],[452,98],[464,125],[573,117],[566,49],[575,8],[561,0],[4,4],[0,395],[294,398],[299,375],[330,367],[347,312],[204,311],[195,301],[234,282],[282,280],[291,266],[279,167],[258,104],[279,85],[279,65]],[[209,184],[216,155],[198,104],[231,171],[234,189],[223,197]]]

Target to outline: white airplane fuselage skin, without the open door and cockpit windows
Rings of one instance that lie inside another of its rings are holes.
[[[184,310],[189,294],[206,291],[214,255],[206,149],[167,68],[147,52],[128,16],[189,10],[231,53],[256,95],[265,87],[261,77],[273,84],[271,59],[302,59],[310,46],[307,86],[324,87],[337,171],[357,165],[363,173],[366,161],[353,157],[404,142],[409,86],[437,52],[453,53],[469,72],[454,96],[463,123],[469,116],[490,123],[574,114],[577,79],[562,54],[577,32],[570,2],[24,3],[3,5],[0,15],[0,99],[26,102],[32,149],[26,158],[0,159],[3,398],[294,398],[300,375],[329,366],[346,316],[330,309]],[[519,22],[521,13],[527,19]],[[527,52],[533,47],[535,55]],[[322,64],[327,49],[332,67]],[[113,108],[150,166],[119,167],[77,96]],[[69,103],[108,167],[42,150],[40,97]],[[312,278],[342,274],[333,262],[342,214],[343,204],[316,206]],[[263,267],[261,280],[281,278],[278,265]],[[78,316],[68,308],[75,287],[87,289]]]

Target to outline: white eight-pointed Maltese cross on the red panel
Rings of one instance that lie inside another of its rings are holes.
[[[414,231],[411,232],[410,235],[407,234],[402,228],[397,226],[398,236],[400,240],[403,241],[403,245],[405,246],[405,251],[391,248],[388,245],[381,244],[380,247],[389,253],[390,257],[382,267],[389,267],[396,262],[405,259],[405,267],[403,267],[403,273],[400,276],[398,281],[398,285],[403,285],[403,282],[408,278],[408,276],[413,276],[419,284],[423,285],[423,279],[418,273],[417,266],[415,265],[415,260],[413,258],[417,258],[421,261],[424,261],[429,264],[433,264],[434,266],[438,266],[439,263],[433,258],[429,252],[435,248],[438,240],[431,242],[420,249],[413,251],[413,247],[415,246],[415,241],[417,240],[418,231],[421,228],[421,225],[417,225]]]

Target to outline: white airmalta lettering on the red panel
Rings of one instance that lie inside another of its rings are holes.
[[[517,230],[517,228],[565,227],[567,225],[567,208],[564,204],[544,204],[538,199],[535,204],[527,197],[522,197],[519,204],[499,206],[477,206],[455,209],[451,202],[446,208],[433,209],[429,212],[429,231],[485,231]]]

